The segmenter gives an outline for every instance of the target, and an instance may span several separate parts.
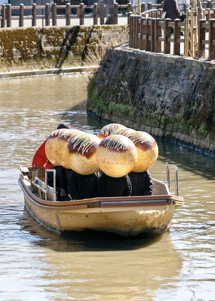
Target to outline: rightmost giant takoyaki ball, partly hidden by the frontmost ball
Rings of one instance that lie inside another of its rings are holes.
[[[148,133],[136,131],[127,135],[137,149],[137,162],[132,172],[144,172],[157,160],[158,147],[154,138]]]

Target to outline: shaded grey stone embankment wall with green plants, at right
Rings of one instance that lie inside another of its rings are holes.
[[[215,154],[215,62],[107,51],[88,86],[88,112]]]

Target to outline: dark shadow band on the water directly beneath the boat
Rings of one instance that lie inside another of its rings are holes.
[[[47,247],[56,252],[77,252],[77,251],[117,251],[117,250],[136,250],[151,246],[159,241],[162,235],[145,240],[117,240],[104,237],[77,237],[69,234],[60,234],[51,229],[47,229],[40,224],[24,207],[21,230],[31,234],[34,245]]]

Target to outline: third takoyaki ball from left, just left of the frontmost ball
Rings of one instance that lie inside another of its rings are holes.
[[[92,134],[78,134],[66,148],[66,159],[71,169],[81,175],[91,175],[99,170],[95,154],[101,140]]]

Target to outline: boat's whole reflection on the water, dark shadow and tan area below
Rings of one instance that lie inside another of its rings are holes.
[[[61,300],[62,285],[65,299],[80,300],[84,291],[89,299],[104,300],[105,296],[110,301],[114,296],[114,300],[126,301],[144,294],[154,300],[157,291],[168,285],[171,295],[180,282],[183,260],[169,233],[129,242],[70,237],[48,230],[27,209],[23,230],[29,231],[31,244],[42,255],[37,258],[42,287],[55,283],[56,300]]]

